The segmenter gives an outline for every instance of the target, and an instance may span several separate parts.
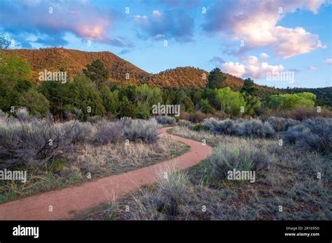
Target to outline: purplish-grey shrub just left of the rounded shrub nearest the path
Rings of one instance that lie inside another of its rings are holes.
[[[123,125],[120,122],[103,121],[97,124],[97,133],[92,138],[95,144],[105,145],[109,142],[118,142],[123,135]]]

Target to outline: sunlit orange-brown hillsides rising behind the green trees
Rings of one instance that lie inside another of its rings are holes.
[[[38,82],[40,71],[58,71],[64,68],[70,76],[82,73],[82,68],[92,63],[95,59],[100,59],[109,69],[110,82],[126,83],[126,73],[130,75],[130,83],[147,83],[151,86],[160,87],[200,87],[207,84],[209,73],[200,68],[179,67],[167,69],[157,74],[147,73],[146,71],[134,66],[129,61],[116,56],[112,52],[84,52],[81,50],[71,50],[57,47],[41,48],[39,50],[15,49],[6,50],[9,55],[18,55],[29,61],[34,80]],[[226,86],[233,90],[241,89],[243,80],[226,73]],[[260,96],[264,98],[270,94],[277,94],[277,89],[272,87],[260,86]]]

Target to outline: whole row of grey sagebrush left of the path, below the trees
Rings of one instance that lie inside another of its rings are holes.
[[[143,142],[158,139],[155,119],[102,120],[92,125],[77,119],[59,123],[50,115],[38,119],[29,115],[26,109],[18,110],[16,116],[0,119],[0,168],[46,165],[73,152],[78,143],[106,145],[125,139]]]

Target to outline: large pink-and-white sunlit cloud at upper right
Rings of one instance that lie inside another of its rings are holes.
[[[270,47],[284,58],[304,54],[325,45],[318,45],[319,36],[303,27],[278,26],[286,13],[307,9],[316,14],[324,1],[312,0],[226,0],[207,9],[203,29],[209,34],[222,34],[233,40],[243,40],[247,49]],[[236,54],[236,53],[235,53]]]

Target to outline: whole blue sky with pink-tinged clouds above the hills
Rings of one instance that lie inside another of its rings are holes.
[[[331,0],[0,0],[11,49],[110,51],[148,73],[194,66],[332,86]]]

